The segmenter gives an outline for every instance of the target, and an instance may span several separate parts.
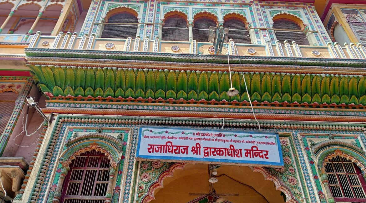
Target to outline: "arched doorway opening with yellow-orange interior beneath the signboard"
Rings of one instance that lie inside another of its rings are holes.
[[[175,170],[172,177],[164,179],[163,188],[154,191],[155,200],[150,203],[215,202],[204,199],[212,191],[208,167],[208,164],[186,164],[183,170]],[[285,202],[285,195],[276,190],[272,181],[247,166],[221,165],[216,177],[219,181],[213,187],[221,202]],[[200,197],[202,201],[197,200]]]

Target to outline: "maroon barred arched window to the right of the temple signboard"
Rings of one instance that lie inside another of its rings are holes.
[[[365,202],[366,182],[356,164],[337,156],[326,162],[325,172],[337,202]]]

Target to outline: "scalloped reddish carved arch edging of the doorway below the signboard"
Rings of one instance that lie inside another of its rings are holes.
[[[184,167],[187,165],[187,163],[175,163],[172,164],[166,171],[160,173],[158,179],[152,183],[149,186],[149,189],[147,190],[147,193],[142,198],[141,203],[148,203],[155,199],[154,197],[154,191],[158,188],[162,188],[163,186],[163,180],[167,177],[172,177],[173,172],[176,169],[184,169]],[[279,190],[283,192],[286,195],[286,202],[289,203],[298,203],[297,200],[295,200],[294,195],[292,195],[290,189],[288,189],[280,179],[278,179],[276,176],[270,175],[268,171],[266,171],[265,168],[262,167],[249,167],[252,169],[253,172],[259,172],[261,173],[266,180],[270,180],[276,185],[276,190]]]

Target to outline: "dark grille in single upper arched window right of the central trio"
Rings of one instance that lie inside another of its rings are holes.
[[[301,30],[300,26],[290,20],[276,20],[273,22],[273,28],[286,29],[286,30]],[[310,45],[307,40],[306,34],[299,31],[279,31],[275,30],[276,38],[283,43],[285,40],[288,42],[296,41],[298,45]]]

